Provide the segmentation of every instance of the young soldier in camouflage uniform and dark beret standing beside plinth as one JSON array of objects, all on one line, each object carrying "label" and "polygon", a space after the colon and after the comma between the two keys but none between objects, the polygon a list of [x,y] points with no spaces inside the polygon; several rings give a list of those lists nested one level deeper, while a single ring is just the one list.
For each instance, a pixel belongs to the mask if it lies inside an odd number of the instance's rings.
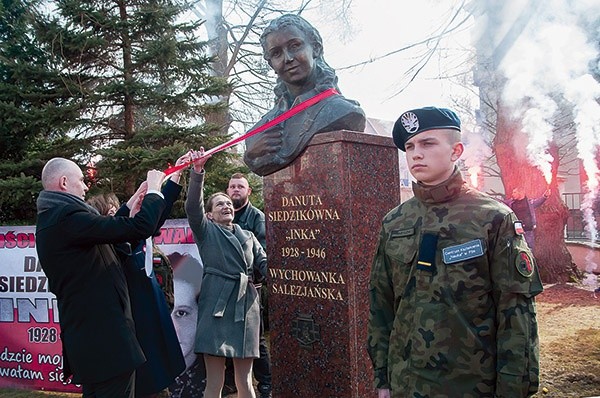
[{"label": "young soldier in camouflage uniform and dark beret standing beside plinth", "polygon": [[539,385],[542,291],[509,207],[466,186],[454,112],[405,112],[414,198],[383,219],[370,275],[368,350],[380,398],[518,398]]}]

